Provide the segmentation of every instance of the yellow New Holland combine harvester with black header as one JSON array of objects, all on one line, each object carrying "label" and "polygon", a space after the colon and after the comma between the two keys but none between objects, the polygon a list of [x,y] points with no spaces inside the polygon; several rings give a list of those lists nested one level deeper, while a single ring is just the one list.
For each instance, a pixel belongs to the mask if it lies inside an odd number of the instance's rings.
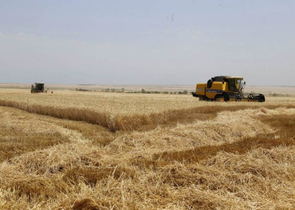
[{"label": "yellow New Holland combine harvester with black header", "polygon": [[265,101],[262,94],[243,93],[246,82],[242,80],[242,77],[212,77],[207,83],[198,83],[193,96],[199,97],[202,101]]}]

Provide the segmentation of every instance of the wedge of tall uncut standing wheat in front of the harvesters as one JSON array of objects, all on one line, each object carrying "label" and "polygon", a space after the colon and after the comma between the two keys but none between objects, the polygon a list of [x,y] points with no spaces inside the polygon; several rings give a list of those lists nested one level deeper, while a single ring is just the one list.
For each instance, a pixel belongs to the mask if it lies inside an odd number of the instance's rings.
[{"label": "wedge of tall uncut standing wheat in front of the harvesters", "polygon": [[[31,113],[101,125],[110,131],[153,129],[158,125],[192,122],[216,115],[224,109],[281,106],[289,103],[207,103],[191,96],[146,96],[144,94],[0,94],[0,106]],[[278,101],[279,102],[279,101]]]}]

